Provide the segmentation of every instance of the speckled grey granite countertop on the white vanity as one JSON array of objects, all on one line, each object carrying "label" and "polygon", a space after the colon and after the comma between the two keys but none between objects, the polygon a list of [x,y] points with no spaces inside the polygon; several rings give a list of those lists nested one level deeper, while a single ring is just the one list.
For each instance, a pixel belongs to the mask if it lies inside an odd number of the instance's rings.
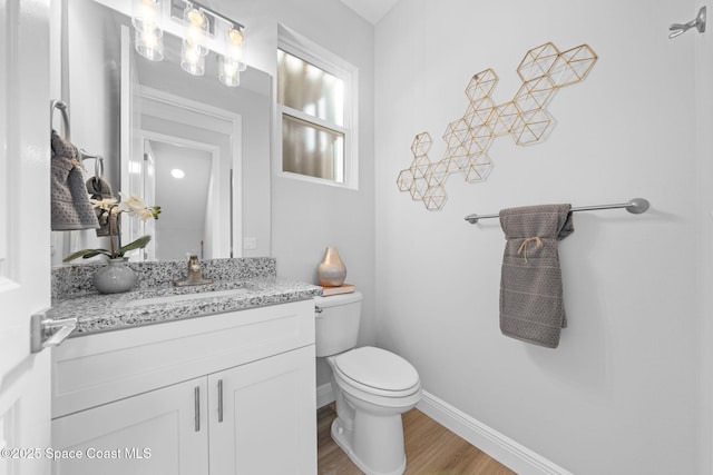
[{"label": "speckled grey granite countertop on the white vanity", "polygon": [[[226,290],[236,291],[225,295]],[[219,294],[211,294],[216,291]],[[203,294],[205,298],[196,297]],[[214,280],[211,285],[189,287],[174,287],[165,284],[124,294],[77,295],[56,303],[47,316],[50,318],[77,317],[77,328],[70,335],[71,338],[183,318],[307,300],[321,294],[322,287],[276,277]],[[189,297],[176,301],[137,301],[178,295]]]}]

